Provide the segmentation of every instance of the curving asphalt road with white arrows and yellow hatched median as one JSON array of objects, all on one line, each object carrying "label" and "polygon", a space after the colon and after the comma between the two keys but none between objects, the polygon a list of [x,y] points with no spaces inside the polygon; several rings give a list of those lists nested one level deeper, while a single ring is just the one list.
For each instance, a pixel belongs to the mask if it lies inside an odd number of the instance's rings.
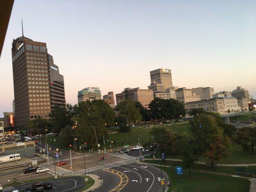
[{"label": "curving asphalt road with white arrows and yellow hatched median", "polygon": [[[103,184],[95,192],[163,192],[161,171],[151,166],[136,163],[110,167],[90,172],[103,179]],[[119,175],[122,175],[123,180]],[[128,182],[126,180],[128,178]],[[163,173],[164,189],[168,177]]]}]

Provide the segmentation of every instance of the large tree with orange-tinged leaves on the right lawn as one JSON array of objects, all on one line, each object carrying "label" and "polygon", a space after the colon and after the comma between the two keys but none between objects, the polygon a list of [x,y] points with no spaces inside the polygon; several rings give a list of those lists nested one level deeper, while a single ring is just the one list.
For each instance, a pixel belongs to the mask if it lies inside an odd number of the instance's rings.
[{"label": "large tree with orange-tinged leaves on the right lawn", "polygon": [[191,121],[191,132],[195,141],[195,155],[208,157],[212,167],[215,161],[227,155],[226,149],[230,144],[230,139],[223,134],[223,130],[213,116],[197,115]]}]

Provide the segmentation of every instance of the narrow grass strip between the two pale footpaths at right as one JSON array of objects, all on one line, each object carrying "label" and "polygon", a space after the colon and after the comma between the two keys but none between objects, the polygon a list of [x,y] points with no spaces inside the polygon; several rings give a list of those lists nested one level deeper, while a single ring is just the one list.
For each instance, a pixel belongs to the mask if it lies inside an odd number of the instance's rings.
[{"label": "narrow grass strip between the two pale footpaths at right", "polygon": [[[159,160],[146,160],[145,162],[146,163],[153,163],[153,164],[163,165],[163,161],[159,161]],[[165,161],[165,165],[172,166],[173,168],[175,166],[184,167],[183,162],[180,162],[180,161]],[[218,166],[218,167],[211,168],[210,166],[207,166],[207,165],[194,164],[193,169],[207,170],[207,171],[218,172],[218,173],[228,173],[228,174],[233,174],[233,175],[239,175],[239,174],[236,173],[236,167]],[[244,171],[256,174],[256,166],[244,167]]]}]

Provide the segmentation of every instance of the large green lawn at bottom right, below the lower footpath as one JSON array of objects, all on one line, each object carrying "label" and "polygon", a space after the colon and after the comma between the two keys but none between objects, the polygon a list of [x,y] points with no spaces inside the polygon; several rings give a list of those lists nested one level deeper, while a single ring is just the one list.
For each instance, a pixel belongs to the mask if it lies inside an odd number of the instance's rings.
[{"label": "large green lawn at bottom right, below the lower footpath", "polygon": [[171,179],[168,192],[249,192],[250,190],[250,181],[242,178],[192,171],[192,179],[188,170],[183,170],[183,176],[180,176],[176,174],[174,168],[162,167],[162,169]]}]

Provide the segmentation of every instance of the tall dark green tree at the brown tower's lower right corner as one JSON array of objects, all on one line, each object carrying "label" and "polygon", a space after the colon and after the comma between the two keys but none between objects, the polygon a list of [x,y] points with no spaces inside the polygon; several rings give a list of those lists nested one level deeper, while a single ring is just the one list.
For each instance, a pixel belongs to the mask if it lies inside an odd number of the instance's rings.
[{"label": "tall dark green tree at the brown tower's lower right corner", "polygon": [[51,117],[52,132],[59,134],[59,132],[66,126],[72,126],[73,122],[73,106],[67,104],[66,106],[54,106]]}]

